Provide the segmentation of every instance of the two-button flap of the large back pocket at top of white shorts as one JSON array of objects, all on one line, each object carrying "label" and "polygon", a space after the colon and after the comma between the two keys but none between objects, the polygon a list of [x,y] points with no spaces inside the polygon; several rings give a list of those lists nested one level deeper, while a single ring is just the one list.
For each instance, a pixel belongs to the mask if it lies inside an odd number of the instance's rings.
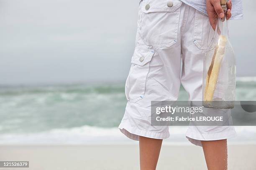
[{"label": "two-button flap of the large back pocket at top of white shorts", "polygon": [[142,11],[144,13],[174,12],[182,5],[179,0],[145,0],[142,2]]}]

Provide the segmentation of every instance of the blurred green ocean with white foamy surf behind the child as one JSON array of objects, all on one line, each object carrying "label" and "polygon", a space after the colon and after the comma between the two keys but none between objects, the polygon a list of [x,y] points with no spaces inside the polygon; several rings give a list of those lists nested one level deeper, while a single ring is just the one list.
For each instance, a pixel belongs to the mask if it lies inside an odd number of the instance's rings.
[{"label": "blurred green ocean with white foamy surf behind the child", "polygon": [[[256,100],[256,77],[237,79],[236,100]],[[125,105],[124,83],[0,86],[0,144],[134,143],[117,128]],[[170,127],[165,143],[189,145],[186,130]],[[256,127],[236,130],[230,143],[256,143]]]}]

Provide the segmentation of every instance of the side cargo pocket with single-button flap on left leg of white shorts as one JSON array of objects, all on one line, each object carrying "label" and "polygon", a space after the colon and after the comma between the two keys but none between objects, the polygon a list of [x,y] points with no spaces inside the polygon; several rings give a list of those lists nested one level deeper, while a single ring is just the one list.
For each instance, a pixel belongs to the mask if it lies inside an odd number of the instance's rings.
[{"label": "side cargo pocket with single-button flap on left leg of white shorts", "polygon": [[125,96],[129,102],[137,102],[144,97],[146,79],[154,50],[136,47],[131,59],[131,69],[125,83]]}]

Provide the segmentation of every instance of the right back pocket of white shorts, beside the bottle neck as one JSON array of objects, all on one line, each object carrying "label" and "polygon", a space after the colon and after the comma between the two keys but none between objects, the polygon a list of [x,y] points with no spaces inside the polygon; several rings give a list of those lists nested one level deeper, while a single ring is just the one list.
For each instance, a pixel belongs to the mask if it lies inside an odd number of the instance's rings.
[{"label": "right back pocket of white shorts, beside the bottle neck", "polygon": [[211,25],[208,17],[196,10],[193,42],[201,50],[207,50],[208,48],[210,29]]}]

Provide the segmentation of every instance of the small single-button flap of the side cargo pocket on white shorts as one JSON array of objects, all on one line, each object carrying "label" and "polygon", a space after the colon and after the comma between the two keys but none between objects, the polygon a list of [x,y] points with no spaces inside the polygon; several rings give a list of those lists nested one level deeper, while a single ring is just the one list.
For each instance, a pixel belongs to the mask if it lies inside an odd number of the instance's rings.
[{"label": "small single-button flap of the side cargo pocket on white shorts", "polygon": [[151,61],[154,53],[155,50],[153,49],[136,47],[133,53],[133,57],[131,59],[131,63],[143,66]]}]

